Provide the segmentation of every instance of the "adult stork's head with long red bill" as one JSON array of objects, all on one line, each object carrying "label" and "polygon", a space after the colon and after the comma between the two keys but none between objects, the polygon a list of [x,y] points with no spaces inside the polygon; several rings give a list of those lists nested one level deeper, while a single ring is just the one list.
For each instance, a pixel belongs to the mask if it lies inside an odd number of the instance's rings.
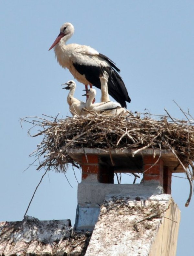
[{"label": "adult stork's head with long red bill", "polygon": [[67,40],[73,35],[74,33],[74,27],[70,22],[64,23],[60,28],[60,33],[58,37],[55,39],[55,42],[50,46],[50,51],[59,41],[63,38],[64,43],[67,42]]}]

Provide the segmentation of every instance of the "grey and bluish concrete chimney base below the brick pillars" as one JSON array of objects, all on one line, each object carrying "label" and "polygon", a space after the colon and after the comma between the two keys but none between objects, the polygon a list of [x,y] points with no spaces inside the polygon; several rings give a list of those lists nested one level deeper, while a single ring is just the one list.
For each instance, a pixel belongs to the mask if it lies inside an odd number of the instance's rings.
[{"label": "grey and bluish concrete chimney base below the brick pillars", "polygon": [[[146,200],[164,201],[168,195],[162,194],[163,188],[157,182],[143,182],[141,184],[102,184],[83,181],[78,185],[78,206],[76,212],[75,229],[93,230],[104,200],[114,196],[127,197],[131,201],[139,198],[141,204]],[[155,195],[155,197],[154,197]]]}]

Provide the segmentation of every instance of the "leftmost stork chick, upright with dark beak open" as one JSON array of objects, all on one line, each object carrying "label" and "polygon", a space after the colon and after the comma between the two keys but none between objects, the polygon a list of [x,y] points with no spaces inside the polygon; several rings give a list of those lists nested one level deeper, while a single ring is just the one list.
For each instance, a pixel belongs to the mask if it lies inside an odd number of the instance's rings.
[{"label": "leftmost stork chick, upright with dark beak open", "polygon": [[67,103],[69,104],[69,110],[73,116],[80,116],[82,113],[82,108],[86,107],[85,102],[80,101],[76,98],[74,98],[74,92],[76,89],[76,83],[73,80],[68,81],[65,84],[61,85],[67,85],[66,87],[62,89],[70,90],[68,96],[67,96]]}]

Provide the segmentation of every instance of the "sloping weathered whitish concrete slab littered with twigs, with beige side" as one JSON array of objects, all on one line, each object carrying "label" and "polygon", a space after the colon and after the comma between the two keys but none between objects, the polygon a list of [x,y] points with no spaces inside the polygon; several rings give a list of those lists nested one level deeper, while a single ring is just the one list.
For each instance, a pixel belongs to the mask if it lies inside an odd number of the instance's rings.
[{"label": "sloping weathered whitish concrete slab littered with twigs, with beige side", "polygon": [[86,256],[175,256],[180,211],[170,195],[151,200],[109,195]]}]

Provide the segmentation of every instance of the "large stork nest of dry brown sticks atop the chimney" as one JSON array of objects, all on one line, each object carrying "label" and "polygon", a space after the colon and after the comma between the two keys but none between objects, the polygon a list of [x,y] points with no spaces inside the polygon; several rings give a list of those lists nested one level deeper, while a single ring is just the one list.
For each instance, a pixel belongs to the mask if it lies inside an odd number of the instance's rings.
[{"label": "large stork nest of dry brown sticks atop the chimney", "polygon": [[[168,113],[167,113],[168,114]],[[186,116],[186,115],[185,115]],[[156,120],[157,119],[159,120]],[[44,116],[26,117],[22,121],[38,127],[38,133],[32,137],[43,136],[37,149],[31,154],[38,161],[38,168],[66,172],[67,164],[76,165],[70,157],[73,148],[100,149],[168,149],[178,159],[180,165],[192,179],[194,162],[194,123],[191,118],[178,120],[168,116],[150,114],[129,114],[126,116],[76,118]]]}]

